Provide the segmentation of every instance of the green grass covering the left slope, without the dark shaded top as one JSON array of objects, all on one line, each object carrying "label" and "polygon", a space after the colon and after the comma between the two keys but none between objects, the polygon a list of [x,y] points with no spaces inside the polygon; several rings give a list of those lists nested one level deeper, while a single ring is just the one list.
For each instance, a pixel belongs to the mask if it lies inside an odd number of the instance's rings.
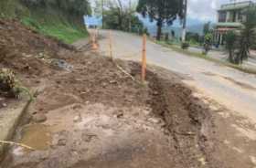
[{"label": "green grass covering the left slope, without the dark shaded top", "polygon": [[[88,37],[85,27],[80,24],[70,24],[74,18],[69,18],[52,8],[29,9],[19,0],[0,0],[0,18],[16,18],[24,25],[30,26],[37,32],[56,37],[59,40],[71,44],[76,40]],[[69,19],[68,19],[69,18]]]}]

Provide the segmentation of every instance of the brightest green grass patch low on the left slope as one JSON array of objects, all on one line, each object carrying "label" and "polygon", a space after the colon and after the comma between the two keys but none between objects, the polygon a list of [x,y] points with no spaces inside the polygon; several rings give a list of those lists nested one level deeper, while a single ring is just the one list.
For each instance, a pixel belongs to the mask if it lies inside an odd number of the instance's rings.
[{"label": "brightest green grass patch low on the left slope", "polygon": [[43,35],[49,37],[56,37],[59,40],[62,40],[63,42],[68,44],[72,44],[80,38],[88,37],[88,32],[85,29],[77,26],[71,26],[67,23],[62,23],[60,19],[56,19],[55,23],[39,23],[37,19],[31,17],[24,17],[22,19],[22,23],[26,26],[33,27],[35,30]]}]

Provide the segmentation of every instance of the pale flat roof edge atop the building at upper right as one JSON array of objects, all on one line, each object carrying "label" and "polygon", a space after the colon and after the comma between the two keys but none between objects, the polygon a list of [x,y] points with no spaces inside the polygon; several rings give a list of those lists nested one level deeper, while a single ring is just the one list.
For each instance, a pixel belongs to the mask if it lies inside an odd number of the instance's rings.
[{"label": "pale flat roof edge atop the building at upper right", "polygon": [[254,3],[252,1],[231,3],[231,4],[221,5],[219,11],[243,9],[243,8],[249,7],[250,5],[254,5]]}]

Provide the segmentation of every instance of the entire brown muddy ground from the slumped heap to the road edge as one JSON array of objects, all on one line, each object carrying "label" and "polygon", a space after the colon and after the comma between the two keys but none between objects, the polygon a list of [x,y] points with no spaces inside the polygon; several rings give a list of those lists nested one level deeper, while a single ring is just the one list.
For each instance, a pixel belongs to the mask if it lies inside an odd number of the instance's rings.
[{"label": "entire brown muddy ground from the slumped heap to the road edge", "polygon": [[225,135],[216,113],[178,75],[152,67],[143,84],[137,63],[76,51],[16,21],[2,20],[0,35],[0,67],[37,90],[12,140],[35,150],[12,146],[1,168],[236,167],[216,139]]}]

